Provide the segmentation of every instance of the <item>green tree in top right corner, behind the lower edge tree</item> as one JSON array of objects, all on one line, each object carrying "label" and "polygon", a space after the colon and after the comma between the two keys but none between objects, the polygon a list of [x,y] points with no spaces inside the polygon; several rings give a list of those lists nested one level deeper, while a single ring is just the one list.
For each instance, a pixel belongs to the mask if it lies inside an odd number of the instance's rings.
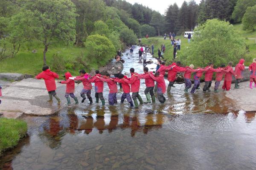
[{"label": "green tree in top right corner, behind the lower edge tree", "polygon": [[234,11],[232,13],[232,19],[236,23],[241,22],[246,9],[250,6],[255,6],[255,5],[256,5],[256,0],[238,0],[234,8]]}]

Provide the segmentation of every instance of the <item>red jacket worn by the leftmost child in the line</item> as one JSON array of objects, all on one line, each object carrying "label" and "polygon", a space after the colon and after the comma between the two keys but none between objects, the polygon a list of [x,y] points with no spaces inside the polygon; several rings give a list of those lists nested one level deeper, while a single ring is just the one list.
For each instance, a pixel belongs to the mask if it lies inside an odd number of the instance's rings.
[{"label": "red jacket worn by the leftmost child in the line", "polygon": [[47,69],[46,71],[41,72],[35,78],[36,79],[44,79],[47,91],[56,90],[55,79],[58,79],[58,74],[50,71],[50,69]]}]

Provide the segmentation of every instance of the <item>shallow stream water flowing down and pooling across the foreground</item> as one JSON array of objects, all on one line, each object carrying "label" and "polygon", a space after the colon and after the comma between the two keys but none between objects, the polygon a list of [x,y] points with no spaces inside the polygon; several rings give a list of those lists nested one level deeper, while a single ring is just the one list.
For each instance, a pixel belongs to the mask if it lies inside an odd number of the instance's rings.
[{"label": "shallow stream water flowing down and pooling across the foreground", "polygon": [[[138,50],[123,54],[123,73],[131,67],[143,73]],[[147,59],[154,71],[157,60],[150,54]],[[255,170],[255,112],[237,111],[224,92],[185,94],[184,84],[175,86],[164,104],[132,109],[120,104],[119,91],[115,106],[86,101],[52,116],[23,116],[28,136],[0,158],[0,169]],[[141,80],[145,101],[144,89]],[[106,83],[104,97],[107,101]]]}]

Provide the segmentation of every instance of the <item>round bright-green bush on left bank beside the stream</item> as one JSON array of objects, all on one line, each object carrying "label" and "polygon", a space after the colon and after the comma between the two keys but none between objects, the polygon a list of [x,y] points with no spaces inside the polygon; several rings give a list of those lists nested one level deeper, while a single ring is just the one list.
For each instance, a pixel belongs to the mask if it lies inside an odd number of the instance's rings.
[{"label": "round bright-green bush on left bank beside the stream", "polygon": [[95,62],[99,65],[104,65],[115,54],[113,43],[107,37],[99,34],[87,37],[84,45],[88,48],[90,62]]}]

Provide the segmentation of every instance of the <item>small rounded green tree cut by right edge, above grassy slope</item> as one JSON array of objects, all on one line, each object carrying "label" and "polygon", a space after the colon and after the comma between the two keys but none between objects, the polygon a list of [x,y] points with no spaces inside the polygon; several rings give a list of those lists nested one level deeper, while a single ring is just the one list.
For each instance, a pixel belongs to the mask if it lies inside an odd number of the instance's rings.
[{"label": "small rounded green tree cut by right edge, above grassy slope", "polygon": [[242,19],[243,29],[251,29],[255,30],[256,26],[256,5],[252,7],[248,7],[244,13],[244,17]]}]

